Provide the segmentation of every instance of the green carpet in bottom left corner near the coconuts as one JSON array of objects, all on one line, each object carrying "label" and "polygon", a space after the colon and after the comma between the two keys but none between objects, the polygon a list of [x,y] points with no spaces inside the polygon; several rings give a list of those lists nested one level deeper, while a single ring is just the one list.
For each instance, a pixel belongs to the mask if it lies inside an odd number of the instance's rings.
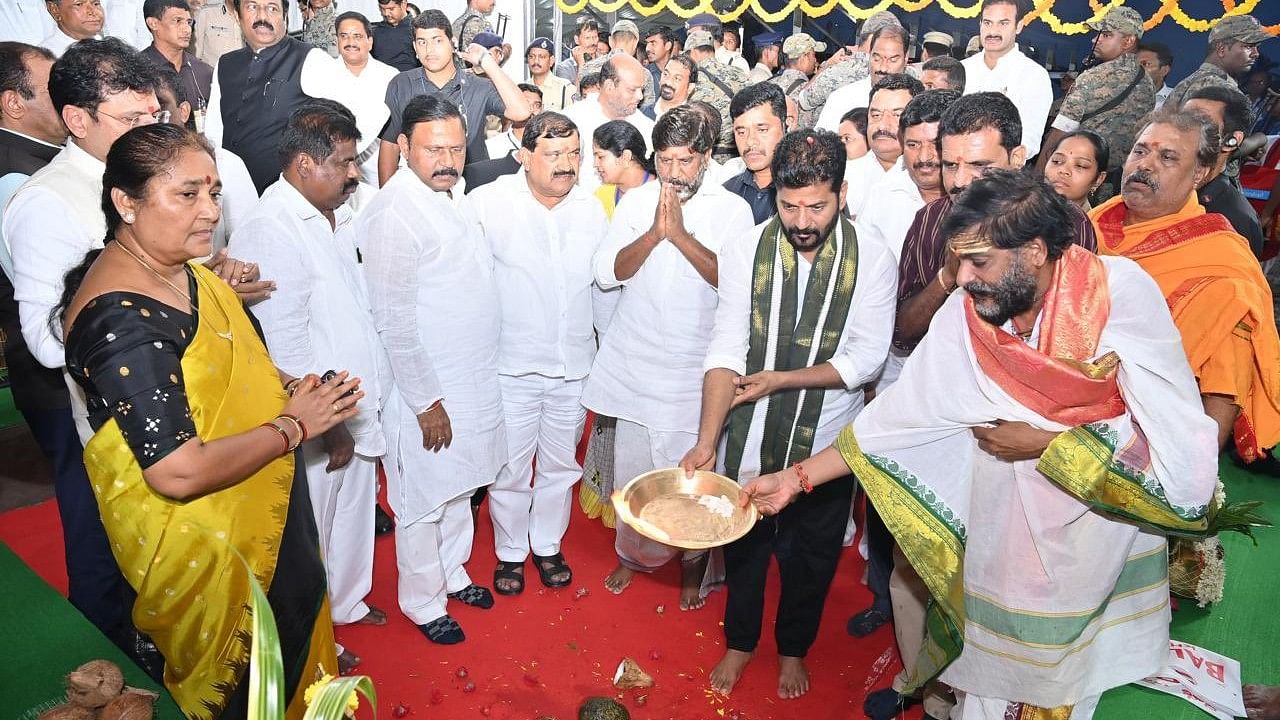
[{"label": "green carpet in bottom left corner near the coconuts", "polygon": [[0,717],[35,720],[64,701],[63,678],[90,660],[110,660],[124,682],[160,692],[156,720],[182,720],[169,694],[74,607],[0,542],[0,647],[9,665],[0,671]]}]

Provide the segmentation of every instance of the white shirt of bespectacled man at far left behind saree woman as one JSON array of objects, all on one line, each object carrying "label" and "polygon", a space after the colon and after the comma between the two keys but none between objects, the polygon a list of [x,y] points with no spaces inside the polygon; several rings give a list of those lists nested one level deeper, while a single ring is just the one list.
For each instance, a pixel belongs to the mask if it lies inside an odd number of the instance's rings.
[{"label": "white shirt of bespectacled man at far left behind saree woman", "polygon": [[63,277],[90,250],[101,249],[106,236],[105,169],[73,140],[18,188],[4,210],[22,336],[46,368],[67,364],[61,333],[49,327],[49,314],[63,297]]}]

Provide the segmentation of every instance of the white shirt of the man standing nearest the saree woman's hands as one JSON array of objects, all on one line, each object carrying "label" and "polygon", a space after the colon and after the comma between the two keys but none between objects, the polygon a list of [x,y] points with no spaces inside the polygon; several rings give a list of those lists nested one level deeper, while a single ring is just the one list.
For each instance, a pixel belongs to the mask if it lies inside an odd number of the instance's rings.
[{"label": "white shirt of the man standing nearest the saree woman's hands", "polygon": [[257,263],[276,283],[253,305],[271,360],[285,373],[347,370],[361,379],[366,401],[347,420],[356,451],[387,452],[378,409],[390,369],[378,343],[353,241],[351,210],[334,210],[334,225],[283,177],[232,234],[228,251]]}]

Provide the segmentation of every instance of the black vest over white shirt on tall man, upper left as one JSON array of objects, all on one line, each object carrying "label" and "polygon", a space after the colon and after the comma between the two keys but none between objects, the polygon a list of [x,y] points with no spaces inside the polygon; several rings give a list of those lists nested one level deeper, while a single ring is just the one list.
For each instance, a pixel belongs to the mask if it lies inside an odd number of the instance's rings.
[{"label": "black vest over white shirt on tall man, upper left", "polygon": [[239,155],[259,195],[280,177],[280,140],[302,94],[302,61],[311,50],[292,37],[253,54],[233,50],[218,61],[223,147]]}]

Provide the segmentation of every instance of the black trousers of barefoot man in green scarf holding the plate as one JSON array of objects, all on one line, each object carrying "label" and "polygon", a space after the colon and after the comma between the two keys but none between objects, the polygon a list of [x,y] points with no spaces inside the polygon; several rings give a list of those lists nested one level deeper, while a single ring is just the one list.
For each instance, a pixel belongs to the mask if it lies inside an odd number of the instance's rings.
[{"label": "black trousers of barefoot man in green scarf holding the plate", "polygon": [[724,546],[724,639],[730,650],[753,652],[760,641],[764,580],[772,556],[778,559],[782,582],[773,629],[778,655],[808,655],[836,575],[852,496],[852,477],[824,483]]}]

